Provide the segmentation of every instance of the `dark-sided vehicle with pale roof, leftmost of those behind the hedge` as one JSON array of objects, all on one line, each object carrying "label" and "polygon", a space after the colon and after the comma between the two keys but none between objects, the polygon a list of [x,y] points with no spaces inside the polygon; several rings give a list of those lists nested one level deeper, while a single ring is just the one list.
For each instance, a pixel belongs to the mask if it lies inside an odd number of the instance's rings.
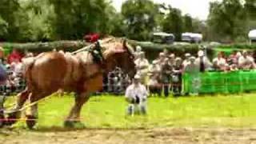
[{"label": "dark-sided vehicle with pale roof, leftmost of those behind the hedge", "polygon": [[167,34],[163,32],[154,33],[152,37],[152,42],[172,44],[174,43],[174,34]]}]

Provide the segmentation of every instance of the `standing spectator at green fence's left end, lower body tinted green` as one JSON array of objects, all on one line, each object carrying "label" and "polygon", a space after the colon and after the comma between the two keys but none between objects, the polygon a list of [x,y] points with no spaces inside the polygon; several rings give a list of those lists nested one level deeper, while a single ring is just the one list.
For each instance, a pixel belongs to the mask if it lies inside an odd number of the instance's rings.
[{"label": "standing spectator at green fence's left end, lower body tinted green", "polygon": [[188,87],[190,94],[198,95],[200,89],[200,70],[199,66],[195,64],[195,58],[190,58],[190,63],[184,68],[186,74],[190,75],[191,82]]}]

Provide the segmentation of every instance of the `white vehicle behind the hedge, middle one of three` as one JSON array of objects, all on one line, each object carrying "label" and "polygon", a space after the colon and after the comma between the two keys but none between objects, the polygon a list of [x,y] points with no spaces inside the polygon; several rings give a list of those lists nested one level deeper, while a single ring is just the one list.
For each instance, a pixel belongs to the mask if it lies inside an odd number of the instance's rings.
[{"label": "white vehicle behind the hedge, middle one of three", "polygon": [[202,34],[194,34],[194,33],[183,33],[182,34],[183,42],[191,42],[191,43],[200,43],[202,42]]}]

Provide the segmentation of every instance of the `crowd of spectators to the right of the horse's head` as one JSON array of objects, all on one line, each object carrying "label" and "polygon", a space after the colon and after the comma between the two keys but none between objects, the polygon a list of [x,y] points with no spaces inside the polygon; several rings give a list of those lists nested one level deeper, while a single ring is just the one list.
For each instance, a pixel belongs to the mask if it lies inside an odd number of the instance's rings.
[{"label": "crowd of spectators to the right of the horse's head", "polygon": [[141,47],[136,50],[136,68],[142,77],[142,83],[148,87],[151,95],[167,97],[170,92],[174,96],[182,94],[182,74],[187,73],[195,79],[205,71],[235,71],[252,70],[256,68],[252,53],[244,50],[234,51],[230,56],[218,53],[217,58],[210,61],[205,50],[199,50],[194,56],[186,53],[182,58],[164,51],[158,55],[152,64],[145,58]]}]

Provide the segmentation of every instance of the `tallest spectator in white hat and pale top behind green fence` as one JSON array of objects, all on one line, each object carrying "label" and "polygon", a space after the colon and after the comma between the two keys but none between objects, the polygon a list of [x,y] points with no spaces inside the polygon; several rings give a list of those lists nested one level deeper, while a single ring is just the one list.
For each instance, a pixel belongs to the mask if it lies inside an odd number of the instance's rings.
[{"label": "tallest spectator in white hat and pale top behind green fence", "polygon": [[195,63],[199,66],[200,72],[202,73],[206,70],[210,70],[210,67],[212,66],[202,50],[198,51],[198,58],[195,60]]}]

